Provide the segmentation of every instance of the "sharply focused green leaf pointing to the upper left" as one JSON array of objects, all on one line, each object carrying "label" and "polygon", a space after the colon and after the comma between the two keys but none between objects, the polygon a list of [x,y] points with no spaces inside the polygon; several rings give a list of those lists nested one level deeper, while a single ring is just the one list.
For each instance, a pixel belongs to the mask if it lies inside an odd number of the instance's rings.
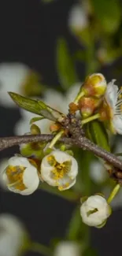
[{"label": "sharply focused green leaf pointing to the upper left", "polygon": [[51,108],[50,106],[47,106],[40,100],[26,98],[14,92],[9,92],[9,95],[13,99],[13,102],[16,102],[20,108],[25,109],[31,113],[36,113],[39,116],[43,116],[51,121],[61,122],[65,119],[65,115],[63,113]]}]

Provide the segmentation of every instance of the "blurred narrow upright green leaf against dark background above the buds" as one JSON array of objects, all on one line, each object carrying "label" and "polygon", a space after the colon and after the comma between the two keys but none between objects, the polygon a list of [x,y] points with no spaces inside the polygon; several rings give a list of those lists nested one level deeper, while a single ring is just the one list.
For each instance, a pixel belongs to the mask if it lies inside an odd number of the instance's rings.
[{"label": "blurred narrow upright green leaf against dark background above the buds", "polygon": [[57,40],[57,73],[61,86],[67,90],[78,81],[76,69],[70,56],[65,39]]}]

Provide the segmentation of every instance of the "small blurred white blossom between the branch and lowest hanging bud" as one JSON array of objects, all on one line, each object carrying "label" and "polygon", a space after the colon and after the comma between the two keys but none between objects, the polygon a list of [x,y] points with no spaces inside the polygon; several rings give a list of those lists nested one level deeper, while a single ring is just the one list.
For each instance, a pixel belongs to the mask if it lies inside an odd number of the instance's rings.
[{"label": "small blurred white blossom between the branch and lowest hanging bud", "polygon": [[107,180],[107,171],[102,163],[98,160],[91,161],[90,176],[95,183],[101,184]]}]

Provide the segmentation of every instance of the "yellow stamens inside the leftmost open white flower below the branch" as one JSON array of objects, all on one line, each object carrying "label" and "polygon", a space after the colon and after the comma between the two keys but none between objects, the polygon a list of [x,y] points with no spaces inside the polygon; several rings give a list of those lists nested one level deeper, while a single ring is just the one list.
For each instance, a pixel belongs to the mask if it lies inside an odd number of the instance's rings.
[{"label": "yellow stamens inside the leftmost open white flower below the branch", "polygon": [[6,176],[9,180],[9,187],[14,187],[15,189],[18,189],[20,191],[23,191],[27,188],[23,183],[23,175],[25,169],[26,167],[20,165],[9,165],[6,168]]}]

